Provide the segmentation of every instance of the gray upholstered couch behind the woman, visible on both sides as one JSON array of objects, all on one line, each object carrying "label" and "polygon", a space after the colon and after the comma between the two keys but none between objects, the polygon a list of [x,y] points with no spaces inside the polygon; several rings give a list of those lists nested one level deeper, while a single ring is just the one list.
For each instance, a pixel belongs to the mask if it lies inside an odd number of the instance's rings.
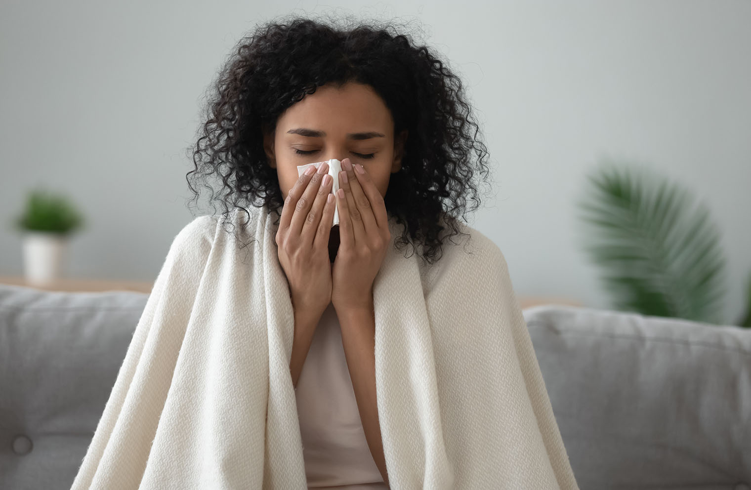
[{"label": "gray upholstered couch behind the woman, visible on both sides", "polygon": [[[70,488],[146,298],[0,285],[0,489]],[[524,315],[582,490],[751,488],[751,330]]]}]

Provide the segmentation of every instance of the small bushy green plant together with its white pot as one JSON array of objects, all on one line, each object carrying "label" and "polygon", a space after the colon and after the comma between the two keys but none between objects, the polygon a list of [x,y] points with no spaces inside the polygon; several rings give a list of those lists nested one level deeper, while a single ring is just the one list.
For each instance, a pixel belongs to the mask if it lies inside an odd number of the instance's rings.
[{"label": "small bushy green plant together with its white pot", "polygon": [[26,280],[48,283],[61,277],[68,236],[83,224],[83,216],[71,201],[49,191],[33,190],[15,224],[23,233]]}]

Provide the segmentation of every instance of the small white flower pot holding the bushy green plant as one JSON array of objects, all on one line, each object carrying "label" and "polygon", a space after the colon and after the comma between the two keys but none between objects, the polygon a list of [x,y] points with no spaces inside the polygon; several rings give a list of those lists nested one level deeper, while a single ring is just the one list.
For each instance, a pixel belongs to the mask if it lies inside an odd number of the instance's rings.
[{"label": "small white flower pot holding the bushy green plant", "polygon": [[44,231],[26,231],[23,237],[23,267],[26,281],[45,284],[62,277],[67,236]]}]

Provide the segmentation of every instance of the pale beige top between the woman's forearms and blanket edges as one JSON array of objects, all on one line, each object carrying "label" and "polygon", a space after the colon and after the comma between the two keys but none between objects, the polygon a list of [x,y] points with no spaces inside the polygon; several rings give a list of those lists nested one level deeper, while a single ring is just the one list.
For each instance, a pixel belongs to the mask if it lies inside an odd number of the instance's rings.
[{"label": "pale beige top between the woman's forearms and blanket edges", "polygon": [[388,489],[365,438],[333,305],[315,329],[295,398],[308,488]]}]

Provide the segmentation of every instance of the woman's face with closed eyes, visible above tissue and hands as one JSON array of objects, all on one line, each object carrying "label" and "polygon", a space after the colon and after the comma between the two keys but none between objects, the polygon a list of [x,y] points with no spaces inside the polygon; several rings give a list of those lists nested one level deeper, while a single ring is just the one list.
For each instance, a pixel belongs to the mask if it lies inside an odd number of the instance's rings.
[{"label": "woman's face with closed eyes, visible above tissue and hands", "polygon": [[370,86],[346,83],[318,87],[289,107],[273,134],[264,134],[264,150],[283,199],[299,178],[298,165],[331,158],[361,164],[385,197],[391,173],[401,168],[404,140],[406,131],[394,140],[391,111]]}]

